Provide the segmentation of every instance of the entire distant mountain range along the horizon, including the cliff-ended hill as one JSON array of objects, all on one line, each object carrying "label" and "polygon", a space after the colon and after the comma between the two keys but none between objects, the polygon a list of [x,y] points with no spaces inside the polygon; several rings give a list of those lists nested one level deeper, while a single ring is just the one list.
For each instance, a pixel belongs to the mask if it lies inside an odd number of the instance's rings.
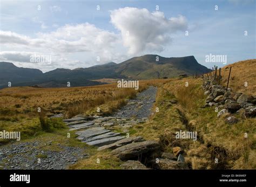
[{"label": "entire distant mountain range along the horizon, including the cliff-ended hill", "polygon": [[0,88],[12,86],[66,87],[92,86],[103,84],[92,81],[103,78],[113,79],[159,79],[172,78],[180,74],[200,74],[208,72],[208,68],[200,65],[194,56],[165,58],[155,54],[133,57],[123,63],[107,63],[88,68],[74,70],[57,68],[46,73],[33,68],[17,67],[12,63],[0,62]]}]

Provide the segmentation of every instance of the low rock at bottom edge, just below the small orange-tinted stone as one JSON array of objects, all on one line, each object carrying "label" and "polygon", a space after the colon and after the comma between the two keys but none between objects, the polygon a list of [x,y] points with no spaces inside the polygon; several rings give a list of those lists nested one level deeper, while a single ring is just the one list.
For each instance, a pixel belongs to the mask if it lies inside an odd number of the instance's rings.
[{"label": "low rock at bottom edge, just below the small orange-tinted stone", "polygon": [[189,169],[186,162],[178,162],[159,158],[159,162],[153,165],[156,169]]}]

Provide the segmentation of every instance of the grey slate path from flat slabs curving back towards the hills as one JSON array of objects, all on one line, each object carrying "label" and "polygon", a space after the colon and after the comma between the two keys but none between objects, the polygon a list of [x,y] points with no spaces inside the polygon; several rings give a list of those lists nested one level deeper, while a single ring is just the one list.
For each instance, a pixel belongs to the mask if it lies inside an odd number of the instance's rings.
[{"label": "grey slate path from flat slabs curving back towards the hills", "polygon": [[70,130],[84,129],[76,132],[77,138],[82,142],[91,146],[106,146],[126,137],[107,128],[112,126],[130,128],[134,124],[147,120],[151,114],[153,103],[156,101],[156,93],[157,88],[150,86],[145,91],[138,93],[135,99],[127,101],[127,105],[119,109],[113,116],[93,116],[94,120],[86,121],[83,115],[78,115],[63,121],[70,127]]}]

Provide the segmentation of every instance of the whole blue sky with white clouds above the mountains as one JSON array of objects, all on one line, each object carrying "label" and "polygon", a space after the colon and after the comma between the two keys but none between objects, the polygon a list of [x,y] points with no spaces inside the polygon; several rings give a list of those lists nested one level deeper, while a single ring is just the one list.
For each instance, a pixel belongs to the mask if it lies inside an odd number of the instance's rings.
[{"label": "whole blue sky with white clouds above the mountains", "polygon": [[222,67],[206,57],[256,58],[255,8],[255,0],[1,0],[0,61],[47,72],[158,54]]}]

